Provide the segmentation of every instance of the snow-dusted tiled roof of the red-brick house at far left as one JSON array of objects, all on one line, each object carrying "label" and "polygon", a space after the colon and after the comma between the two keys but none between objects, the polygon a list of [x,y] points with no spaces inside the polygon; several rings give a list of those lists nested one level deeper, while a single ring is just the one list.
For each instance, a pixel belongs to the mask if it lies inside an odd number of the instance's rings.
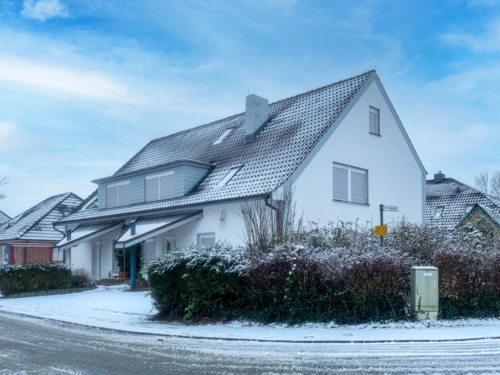
[{"label": "snow-dusted tiled roof of the red-brick house at far left", "polygon": [[58,241],[62,229],[52,223],[74,210],[82,199],[72,192],[51,196],[0,225],[0,242],[9,240]]}]

